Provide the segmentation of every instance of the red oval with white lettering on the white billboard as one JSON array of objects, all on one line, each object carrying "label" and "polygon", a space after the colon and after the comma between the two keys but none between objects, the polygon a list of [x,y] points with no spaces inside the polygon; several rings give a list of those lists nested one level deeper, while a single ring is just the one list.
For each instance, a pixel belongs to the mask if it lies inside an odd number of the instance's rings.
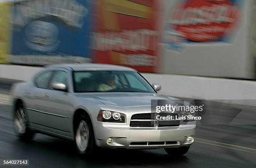
[{"label": "red oval with white lettering on the white billboard", "polygon": [[[168,23],[190,41],[221,40],[235,28],[240,20],[236,0],[177,1]],[[182,2],[182,3],[181,3]]]}]

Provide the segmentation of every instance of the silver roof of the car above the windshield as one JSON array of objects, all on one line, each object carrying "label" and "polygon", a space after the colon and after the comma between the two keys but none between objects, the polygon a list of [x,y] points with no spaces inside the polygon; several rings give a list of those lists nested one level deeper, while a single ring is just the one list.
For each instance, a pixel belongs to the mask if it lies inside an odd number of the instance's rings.
[{"label": "silver roof of the car above the windshield", "polygon": [[115,70],[115,71],[134,71],[134,69],[118,66],[118,65],[109,65],[109,64],[55,64],[46,66],[46,68],[65,68],[73,69],[74,71],[101,71],[101,70]]}]

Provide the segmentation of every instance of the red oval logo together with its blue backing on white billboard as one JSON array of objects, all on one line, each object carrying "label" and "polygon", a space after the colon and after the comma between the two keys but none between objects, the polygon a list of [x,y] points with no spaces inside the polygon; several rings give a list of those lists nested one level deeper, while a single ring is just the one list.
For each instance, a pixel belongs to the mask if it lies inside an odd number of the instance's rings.
[{"label": "red oval logo together with its blue backing on white billboard", "polygon": [[178,51],[184,49],[179,46],[184,43],[232,42],[232,33],[241,20],[238,1],[173,1],[167,11],[164,43],[169,49]]}]

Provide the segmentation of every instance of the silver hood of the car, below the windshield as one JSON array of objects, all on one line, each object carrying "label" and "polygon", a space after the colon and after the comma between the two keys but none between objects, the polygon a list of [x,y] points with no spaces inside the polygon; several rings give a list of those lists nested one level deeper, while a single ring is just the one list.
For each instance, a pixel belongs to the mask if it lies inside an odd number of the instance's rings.
[{"label": "silver hood of the car, below the windshield", "polygon": [[79,97],[91,97],[108,106],[133,107],[151,105],[151,99],[176,99],[158,93],[85,93]]}]

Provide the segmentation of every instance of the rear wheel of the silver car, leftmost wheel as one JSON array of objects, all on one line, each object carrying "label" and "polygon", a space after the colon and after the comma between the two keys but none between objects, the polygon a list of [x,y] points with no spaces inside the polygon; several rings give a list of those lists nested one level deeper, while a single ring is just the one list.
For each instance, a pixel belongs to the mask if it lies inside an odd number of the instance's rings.
[{"label": "rear wheel of the silver car, leftmost wheel", "polygon": [[31,140],[34,133],[28,128],[28,116],[21,102],[16,104],[13,114],[13,127],[18,137],[22,140]]}]

